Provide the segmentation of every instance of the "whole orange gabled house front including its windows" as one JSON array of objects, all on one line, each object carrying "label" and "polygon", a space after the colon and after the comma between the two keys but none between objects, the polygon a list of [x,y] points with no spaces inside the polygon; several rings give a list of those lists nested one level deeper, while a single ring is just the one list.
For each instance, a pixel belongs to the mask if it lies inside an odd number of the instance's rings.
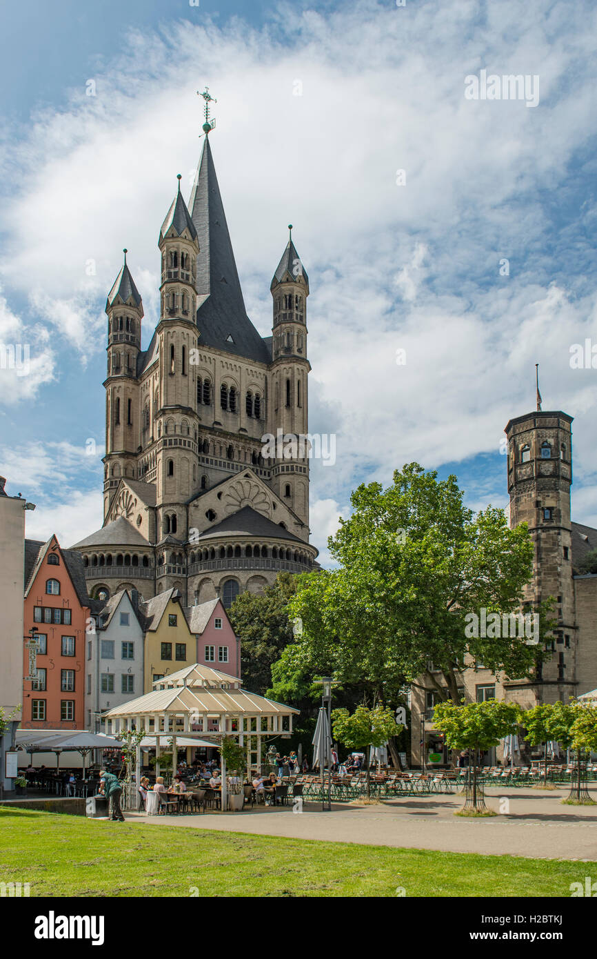
[{"label": "whole orange gabled house front including its windows", "polygon": [[[24,648],[24,729],[84,729],[84,646],[89,599],[80,554],[25,541],[24,639],[34,636],[33,657]],[[36,675],[36,678],[29,678]]]}]

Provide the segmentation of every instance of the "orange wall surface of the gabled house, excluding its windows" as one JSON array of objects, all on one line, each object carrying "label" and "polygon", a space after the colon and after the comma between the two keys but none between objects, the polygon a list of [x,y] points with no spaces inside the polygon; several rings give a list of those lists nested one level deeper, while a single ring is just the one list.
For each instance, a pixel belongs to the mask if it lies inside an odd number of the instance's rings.
[{"label": "orange wall surface of the gabled house, excluding its windows", "polygon": [[[89,610],[80,605],[70,575],[62,556],[59,565],[48,563],[50,550],[46,553],[25,599],[25,633],[34,626],[39,634],[46,636],[46,653],[37,654],[37,667],[46,670],[46,690],[33,690],[33,683],[25,682],[23,690],[23,722],[26,729],[84,729],[84,684],[85,684],[85,630],[89,619]],[[46,582],[57,579],[60,593],[54,596],[46,593]],[[70,610],[71,623],[39,621],[34,616],[35,607],[48,607],[54,610]],[[54,612],[52,614],[54,619]],[[62,655],[62,637],[75,638],[75,655]],[[29,658],[23,656],[24,675],[29,670]],[[61,670],[73,670],[75,690],[61,690]],[[45,700],[45,719],[34,719],[32,704],[34,700]],[[72,719],[61,717],[61,702],[74,703]]]}]

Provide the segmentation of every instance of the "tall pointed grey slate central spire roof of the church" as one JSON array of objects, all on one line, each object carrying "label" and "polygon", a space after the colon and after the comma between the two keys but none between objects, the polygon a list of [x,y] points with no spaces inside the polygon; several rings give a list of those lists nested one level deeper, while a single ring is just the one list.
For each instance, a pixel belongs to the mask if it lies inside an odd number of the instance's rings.
[{"label": "tall pointed grey slate central spire roof of the church", "polygon": [[[258,363],[271,363],[271,351],[246,315],[207,136],[203,141],[189,206],[199,241],[196,320],[199,343]],[[234,342],[230,342],[228,336]]]}]

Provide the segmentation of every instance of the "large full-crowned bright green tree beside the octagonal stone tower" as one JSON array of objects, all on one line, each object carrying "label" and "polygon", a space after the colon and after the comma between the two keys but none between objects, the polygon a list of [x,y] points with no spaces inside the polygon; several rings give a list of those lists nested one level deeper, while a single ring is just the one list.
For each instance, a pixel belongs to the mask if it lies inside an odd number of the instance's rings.
[{"label": "large full-crowned bright green tree beside the octagonal stone tower", "polygon": [[[438,480],[417,463],[386,490],[359,486],[351,502],[329,540],[338,569],[301,576],[290,600],[303,625],[292,667],[302,676],[333,669],[341,683],[359,677],[386,704],[405,683],[457,703],[471,658],[512,679],[532,674],[542,643],[468,635],[483,609],[519,611],[534,553],[526,525],[510,529],[492,506],[475,515],[455,477]],[[550,624],[542,610],[540,639]]]}]

